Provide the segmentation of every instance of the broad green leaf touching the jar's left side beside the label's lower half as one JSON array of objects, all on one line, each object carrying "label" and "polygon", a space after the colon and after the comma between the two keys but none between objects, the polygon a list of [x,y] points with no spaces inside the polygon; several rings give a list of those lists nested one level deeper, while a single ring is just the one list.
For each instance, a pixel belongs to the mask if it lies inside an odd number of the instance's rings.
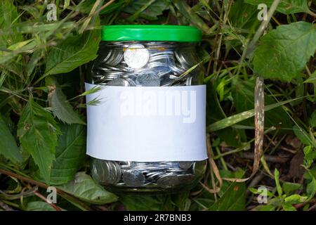
[{"label": "broad green leaf touching the jar's left side beside the label's lower half", "polygon": [[[86,155],[86,127],[61,124],[60,131],[62,135],[58,137],[56,160],[51,168],[51,185],[65,184],[74,179]],[[42,179],[40,174],[36,176]]]}]

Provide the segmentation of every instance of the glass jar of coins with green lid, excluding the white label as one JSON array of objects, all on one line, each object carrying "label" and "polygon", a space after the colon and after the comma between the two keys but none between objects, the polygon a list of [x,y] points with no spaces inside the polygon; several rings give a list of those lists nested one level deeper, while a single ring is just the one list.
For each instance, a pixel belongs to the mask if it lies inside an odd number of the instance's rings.
[{"label": "glass jar of coins with green lid, excluding the white label", "polygon": [[[89,67],[87,82],[103,86],[203,84],[204,70],[195,49],[200,39],[200,31],[188,26],[104,26],[98,58]],[[205,167],[206,160],[140,162],[91,158],[93,179],[113,192],[185,191],[202,179]]]}]

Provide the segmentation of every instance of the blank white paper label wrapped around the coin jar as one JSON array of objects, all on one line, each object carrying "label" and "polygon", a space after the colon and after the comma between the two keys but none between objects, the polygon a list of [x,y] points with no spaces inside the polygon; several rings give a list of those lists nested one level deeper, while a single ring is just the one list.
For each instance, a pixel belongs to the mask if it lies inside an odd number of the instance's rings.
[{"label": "blank white paper label wrapped around the coin jar", "polygon": [[87,154],[117,161],[199,161],[206,155],[206,87],[101,86],[86,96]]}]

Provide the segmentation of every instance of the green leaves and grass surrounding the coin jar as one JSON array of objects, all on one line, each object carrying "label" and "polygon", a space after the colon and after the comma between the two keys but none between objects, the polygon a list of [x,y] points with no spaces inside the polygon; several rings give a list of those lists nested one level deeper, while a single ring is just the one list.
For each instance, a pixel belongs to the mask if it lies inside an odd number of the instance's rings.
[{"label": "green leaves and grass surrounding the coin jar", "polygon": [[[47,20],[51,3],[55,21]],[[259,4],[268,6],[266,20],[258,20]],[[0,209],[315,210],[315,6],[1,0]],[[97,56],[100,25],[111,24],[194,25],[203,32],[210,159],[190,192],[117,196],[89,175],[86,63]],[[46,203],[47,186],[57,188],[56,204]],[[265,204],[258,203],[262,191]]]}]

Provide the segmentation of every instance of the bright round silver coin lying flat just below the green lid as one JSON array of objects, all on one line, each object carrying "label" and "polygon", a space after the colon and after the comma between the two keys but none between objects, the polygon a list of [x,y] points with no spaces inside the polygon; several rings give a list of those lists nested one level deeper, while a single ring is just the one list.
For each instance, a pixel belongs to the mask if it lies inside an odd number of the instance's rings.
[{"label": "bright round silver coin lying flat just below the green lid", "polygon": [[131,44],[124,52],[124,61],[130,68],[139,69],[147,64],[150,53],[142,44]]}]

